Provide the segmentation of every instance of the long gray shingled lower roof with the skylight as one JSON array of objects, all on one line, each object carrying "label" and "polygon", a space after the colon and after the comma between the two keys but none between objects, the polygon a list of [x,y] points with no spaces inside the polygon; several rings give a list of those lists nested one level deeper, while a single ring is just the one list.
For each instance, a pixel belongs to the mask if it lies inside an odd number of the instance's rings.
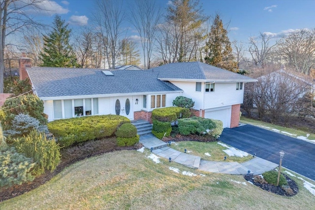
[{"label": "long gray shingled lower roof with the skylight", "polygon": [[152,70],[113,70],[114,76],[100,69],[32,67],[27,71],[39,98],[181,91],[159,80]]}]

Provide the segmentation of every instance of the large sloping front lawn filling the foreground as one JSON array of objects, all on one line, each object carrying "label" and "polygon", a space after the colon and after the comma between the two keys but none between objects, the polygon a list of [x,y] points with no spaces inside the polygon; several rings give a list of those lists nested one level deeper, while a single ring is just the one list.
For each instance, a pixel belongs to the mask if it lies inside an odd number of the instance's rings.
[{"label": "large sloping front lawn filling the foreground", "polygon": [[[156,164],[147,158],[149,154],[148,150],[116,151],[85,159],[31,192],[0,203],[0,209],[282,210],[315,206],[315,196],[295,177],[300,192],[282,197],[233,181],[244,182],[241,175],[202,172],[166,159]],[[182,175],[183,171],[197,176]]]}]

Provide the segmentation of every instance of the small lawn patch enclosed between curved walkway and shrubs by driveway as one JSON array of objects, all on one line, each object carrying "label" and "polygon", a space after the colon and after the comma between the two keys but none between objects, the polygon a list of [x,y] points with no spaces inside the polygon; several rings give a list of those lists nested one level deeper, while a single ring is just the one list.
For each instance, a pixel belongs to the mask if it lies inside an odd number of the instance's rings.
[{"label": "small lawn patch enclosed between curved walkway and shrubs by driveway", "polygon": [[[176,145],[177,144],[177,145]],[[180,141],[171,144],[171,148],[184,152],[185,149],[189,151],[188,153],[191,155],[199,156],[203,160],[209,161],[224,161],[224,156],[226,156],[226,162],[238,162],[243,163],[252,159],[252,155],[248,155],[247,157],[234,157],[228,156],[222,150],[227,149],[224,146],[215,142],[199,142],[199,141]],[[209,153],[211,156],[205,155],[205,153]]]}]

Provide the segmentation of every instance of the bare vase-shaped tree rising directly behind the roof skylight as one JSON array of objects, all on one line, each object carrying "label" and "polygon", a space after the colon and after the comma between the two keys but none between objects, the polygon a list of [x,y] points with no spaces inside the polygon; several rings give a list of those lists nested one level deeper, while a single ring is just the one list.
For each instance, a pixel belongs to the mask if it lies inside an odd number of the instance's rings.
[{"label": "bare vase-shaped tree rising directly behind the roof skylight", "polygon": [[[95,0],[94,21],[103,37],[109,66],[115,69],[116,60],[121,51],[120,40],[124,37],[122,23],[125,20],[123,4],[120,0]],[[111,58],[111,64],[110,64]]]}]

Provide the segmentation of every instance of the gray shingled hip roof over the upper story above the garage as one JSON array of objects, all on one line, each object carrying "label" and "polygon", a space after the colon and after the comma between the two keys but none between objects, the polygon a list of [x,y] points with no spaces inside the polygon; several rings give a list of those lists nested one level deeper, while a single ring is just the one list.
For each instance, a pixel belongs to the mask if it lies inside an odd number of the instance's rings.
[{"label": "gray shingled hip roof over the upper story above the garage", "polygon": [[167,81],[202,82],[255,82],[248,76],[223,70],[201,62],[171,63],[152,69],[158,71],[158,79]]}]

